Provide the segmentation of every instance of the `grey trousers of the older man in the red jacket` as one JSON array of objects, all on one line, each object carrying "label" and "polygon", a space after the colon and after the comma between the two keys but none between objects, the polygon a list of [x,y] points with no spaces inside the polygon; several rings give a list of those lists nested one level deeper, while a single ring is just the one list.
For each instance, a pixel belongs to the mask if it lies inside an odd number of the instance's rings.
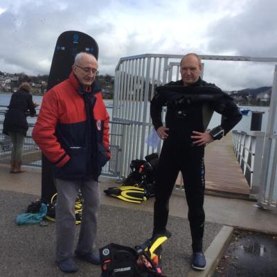
[{"label": "grey trousers of the older man in the red jacket", "polygon": [[99,183],[90,181],[68,181],[55,179],[57,188],[56,260],[73,256],[75,245],[75,199],[82,192],[82,222],[76,249],[84,254],[93,250],[97,230],[97,215],[100,208]]}]

